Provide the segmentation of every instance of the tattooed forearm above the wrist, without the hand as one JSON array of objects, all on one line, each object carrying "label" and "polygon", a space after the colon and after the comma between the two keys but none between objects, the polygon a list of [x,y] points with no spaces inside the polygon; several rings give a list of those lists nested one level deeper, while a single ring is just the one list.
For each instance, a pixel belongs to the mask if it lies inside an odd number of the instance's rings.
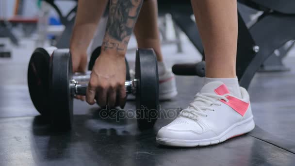
[{"label": "tattooed forearm above the wrist, without the hand", "polygon": [[125,56],[143,0],[110,0],[102,53]]}]

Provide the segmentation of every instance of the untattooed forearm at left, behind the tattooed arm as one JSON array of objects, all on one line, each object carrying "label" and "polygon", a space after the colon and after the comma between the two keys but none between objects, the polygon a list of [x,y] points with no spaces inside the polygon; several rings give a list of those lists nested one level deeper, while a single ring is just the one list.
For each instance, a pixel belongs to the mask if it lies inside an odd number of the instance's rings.
[{"label": "untattooed forearm at left, behind the tattooed arm", "polygon": [[96,32],[100,17],[108,0],[78,0],[75,25],[70,40],[70,49],[86,50]]}]

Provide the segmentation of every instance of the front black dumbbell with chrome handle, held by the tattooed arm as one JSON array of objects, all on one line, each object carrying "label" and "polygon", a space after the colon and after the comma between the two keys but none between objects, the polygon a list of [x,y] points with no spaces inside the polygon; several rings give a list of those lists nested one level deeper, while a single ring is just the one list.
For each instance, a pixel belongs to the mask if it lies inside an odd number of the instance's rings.
[{"label": "front black dumbbell with chrome handle, held by the tattooed arm", "polygon": [[[126,92],[136,96],[138,127],[151,128],[157,119],[159,104],[158,69],[153,50],[137,50],[135,70],[135,79],[125,83]],[[79,80],[80,78],[83,79]],[[55,50],[52,53],[49,65],[48,101],[49,117],[54,129],[71,128],[73,96],[85,95],[88,81],[89,73],[79,77],[72,74],[69,50]]]}]

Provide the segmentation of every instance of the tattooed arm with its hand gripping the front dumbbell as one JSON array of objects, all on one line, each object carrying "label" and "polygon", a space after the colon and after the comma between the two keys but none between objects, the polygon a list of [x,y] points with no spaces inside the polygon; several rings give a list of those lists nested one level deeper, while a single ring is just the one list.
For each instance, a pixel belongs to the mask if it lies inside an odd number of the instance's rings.
[{"label": "tattooed arm with its hand gripping the front dumbbell", "polygon": [[125,103],[125,54],[143,0],[110,0],[109,19],[101,53],[93,67],[86,101],[101,107]]}]

